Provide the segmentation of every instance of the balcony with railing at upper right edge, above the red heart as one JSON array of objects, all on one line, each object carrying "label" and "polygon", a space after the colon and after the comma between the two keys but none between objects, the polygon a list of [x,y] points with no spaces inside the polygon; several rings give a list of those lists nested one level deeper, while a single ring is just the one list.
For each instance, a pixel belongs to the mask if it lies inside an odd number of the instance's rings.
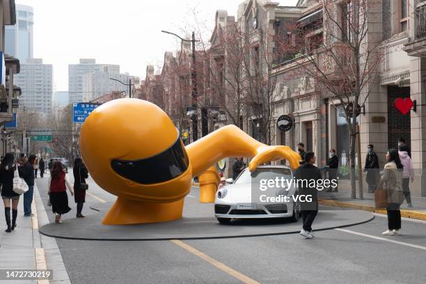
[{"label": "balcony with railing at upper right edge, above the red heart", "polygon": [[414,35],[404,45],[409,56],[426,57],[426,4],[422,2],[414,9]]}]

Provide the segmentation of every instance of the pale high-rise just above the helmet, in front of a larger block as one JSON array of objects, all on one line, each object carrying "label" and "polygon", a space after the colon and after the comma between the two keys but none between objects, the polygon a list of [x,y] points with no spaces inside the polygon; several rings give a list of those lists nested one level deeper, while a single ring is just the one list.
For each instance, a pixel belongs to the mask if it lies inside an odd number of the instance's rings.
[{"label": "pale high-rise just above the helmet, in front of a larger block", "polygon": [[[100,71],[84,74],[83,92],[87,102],[111,92],[123,92],[129,95],[129,86],[125,86],[116,80],[120,80],[124,84],[129,84],[129,81],[131,81],[133,84],[134,77],[128,73],[116,73],[114,72],[116,68],[113,68],[112,71],[108,66],[103,66]],[[116,80],[111,80],[111,78]]]}]

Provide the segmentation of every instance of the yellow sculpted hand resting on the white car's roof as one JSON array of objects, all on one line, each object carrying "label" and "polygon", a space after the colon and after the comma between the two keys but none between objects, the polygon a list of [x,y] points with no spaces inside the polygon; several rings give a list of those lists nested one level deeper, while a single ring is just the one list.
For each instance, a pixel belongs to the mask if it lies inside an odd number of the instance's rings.
[{"label": "yellow sculpted hand resting on the white car's roof", "polygon": [[250,164],[248,164],[248,169],[251,172],[255,171],[255,169],[263,163],[281,159],[287,159],[293,169],[299,168],[299,161],[301,160],[301,157],[288,146],[261,145],[257,149],[257,152],[257,155],[255,155],[255,157],[250,161]]}]

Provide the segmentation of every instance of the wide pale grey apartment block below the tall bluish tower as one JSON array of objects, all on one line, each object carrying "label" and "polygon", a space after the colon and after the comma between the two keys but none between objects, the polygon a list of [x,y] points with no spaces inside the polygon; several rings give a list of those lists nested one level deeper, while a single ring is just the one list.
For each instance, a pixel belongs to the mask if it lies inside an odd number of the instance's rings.
[{"label": "wide pale grey apartment block below the tall bluish tower", "polygon": [[41,58],[29,58],[21,64],[21,72],[17,74],[17,85],[21,87],[19,108],[52,114],[52,64],[43,64]]}]

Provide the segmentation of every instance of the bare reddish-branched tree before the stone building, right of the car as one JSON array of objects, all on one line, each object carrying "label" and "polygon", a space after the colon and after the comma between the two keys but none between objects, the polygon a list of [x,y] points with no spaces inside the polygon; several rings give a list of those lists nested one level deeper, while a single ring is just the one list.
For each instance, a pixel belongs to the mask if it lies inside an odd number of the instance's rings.
[{"label": "bare reddish-branched tree before the stone building, right of the car", "polygon": [[370,33],[370,8],[377,0],[321,0],[323,18],[301,26],[287,26],[292,35],[277,38],[281,56],[292,57],[297,77],[313,79],[332,104],[345,109],[350,138],[349,162],[352,197],[356,197],[355,157],[358,109],[365,104],[379,78],[381,37]]}]

